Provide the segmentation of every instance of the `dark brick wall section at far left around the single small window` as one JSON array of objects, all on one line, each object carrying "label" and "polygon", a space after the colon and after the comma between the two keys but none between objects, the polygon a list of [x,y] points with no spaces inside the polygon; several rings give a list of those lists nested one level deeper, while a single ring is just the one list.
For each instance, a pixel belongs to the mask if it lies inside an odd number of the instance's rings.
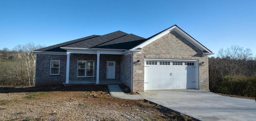
[{"label": "dark brick wall section at far left around the single small window", "polygon": [[[66,81],[66,55],[36,55],[35,85],[61,85]],[[60,74],[50,75],[50,60],[60,60]]]}]

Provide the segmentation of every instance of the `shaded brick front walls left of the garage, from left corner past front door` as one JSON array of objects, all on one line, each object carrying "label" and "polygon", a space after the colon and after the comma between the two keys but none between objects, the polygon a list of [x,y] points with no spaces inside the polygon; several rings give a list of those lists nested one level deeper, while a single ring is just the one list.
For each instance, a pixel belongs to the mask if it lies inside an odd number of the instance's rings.
[{"label": "shaded brick front walls left of the garage, from left corner past front door", "polygon": [[[106,80],[106,62],[116,61],[115,79],[120,80],[121,56],[100,55],[99,80]],[[66,82],[66,55],[36,55],[36,86],[61,85]],[[60,60],[60,74],[50,75],[50,60]],[[77,61],[94,61],[94,77],[77,77]],[[70,54],[69,80],[96,80],[97,55]]]}]

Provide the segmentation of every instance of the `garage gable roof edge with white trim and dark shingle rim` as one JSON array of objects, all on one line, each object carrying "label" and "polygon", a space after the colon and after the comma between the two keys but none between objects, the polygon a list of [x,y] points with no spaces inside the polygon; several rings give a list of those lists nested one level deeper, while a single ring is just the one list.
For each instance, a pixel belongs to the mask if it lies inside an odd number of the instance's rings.
[{"label": "garage gable roof edge with white trim and dark shingle rim", "polygon": [[201,51],[203,51],[203,55],[212,55],[214,53],[212,53],[212,51],[210,51],[209,49],[207,49],[204,45],[202,45],[201,43],[199,43],[196,39],[194,39],[193,37],[191,37],[190,35],[188,35],[188,33],[186,33],[185,31],[183,31],[182,29],[180,29],[180,27],[178,27],[177,25],[173,25],[151,37],[149,37],[146,41],[144,41],[143,43],[141,43],[140,45],[133,47],[132,50],[138,49],[138,48],[142,48],[146,45],[148,45],[149,43],[152,43],[153,41],[159,39],[160,37],[170,33],[171,31],[176,31],[178,34],[180,34],[182,37],[184,37],[186,40],[188,40],[190,43],[192,43],[193,45],[195,45],[198,49],[200,49]]}]

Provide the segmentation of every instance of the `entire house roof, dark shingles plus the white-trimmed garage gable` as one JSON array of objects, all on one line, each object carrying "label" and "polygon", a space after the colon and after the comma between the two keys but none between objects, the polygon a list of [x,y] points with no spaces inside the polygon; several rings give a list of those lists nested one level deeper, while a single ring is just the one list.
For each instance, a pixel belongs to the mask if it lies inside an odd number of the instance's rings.
[{"label": "entire house roof, dark shingles plus the white-trimmed garage gable", "polygon": [[42,49],[37,49],[34,52],[67,52],[67,49],[122,49],[123,53],[128,53],[128,51],[133,51],[137,53],[141,51],[141,48],[152,43],[153,41],[159,39],[160,37],[170,33],[171,31],[176,31],[190,43],[195,45],[198,49],[203,52],[203,56],[212,55],[212,51],[207,49],[204,45],[199,43],[196,39],[188,35],[185,31],[180,29],[177,25],[173,25],[151,37],[145,39],[134,34],[124,33],[122,31],[115,31],[105,35],[91,35],[88,37],[83,37],[80,39],[75,39],[65,43],[60,43],[57,45],[52,45]]}]

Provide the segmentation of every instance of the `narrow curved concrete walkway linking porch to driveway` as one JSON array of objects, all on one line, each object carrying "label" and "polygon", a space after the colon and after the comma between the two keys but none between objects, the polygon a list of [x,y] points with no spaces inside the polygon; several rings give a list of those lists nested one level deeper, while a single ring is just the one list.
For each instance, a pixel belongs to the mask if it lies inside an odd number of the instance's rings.
[{"label": "narrow curved concrete walkway linking porch to driveway", "polygon": [[139,94],[129,95],[125,94],[119,85],[108,85],[108,90],[111,96],[115,98],[127,99],[127,100],[144,100]]}]

